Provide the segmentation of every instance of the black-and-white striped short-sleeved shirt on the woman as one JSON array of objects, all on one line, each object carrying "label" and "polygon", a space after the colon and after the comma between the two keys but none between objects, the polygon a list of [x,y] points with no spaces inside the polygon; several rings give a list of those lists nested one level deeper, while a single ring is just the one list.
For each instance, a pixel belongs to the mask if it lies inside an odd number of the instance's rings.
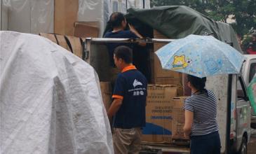
[{"label": "black-and-white striped short-sleeved shirt on the woman", "polygon": [[184,109],[194,113],[191,136],[217,132],[217,99],[211,90],[206,93],[192,94],[185,100]]}]

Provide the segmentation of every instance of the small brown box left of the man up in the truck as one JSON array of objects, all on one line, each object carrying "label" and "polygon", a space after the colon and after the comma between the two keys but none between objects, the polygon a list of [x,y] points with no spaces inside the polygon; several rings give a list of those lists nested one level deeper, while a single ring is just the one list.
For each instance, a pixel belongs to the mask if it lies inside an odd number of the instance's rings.
[{"label": "small brown box left of the man up in the truck", "polygon": [[76,37],[99,37],[99,22],[75,22],[74,36]]}]

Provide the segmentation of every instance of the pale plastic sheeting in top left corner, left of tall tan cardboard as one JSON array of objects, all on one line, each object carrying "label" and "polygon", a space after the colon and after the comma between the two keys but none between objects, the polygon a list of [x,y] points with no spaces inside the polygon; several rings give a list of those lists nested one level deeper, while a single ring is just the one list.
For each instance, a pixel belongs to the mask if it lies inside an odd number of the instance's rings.
[{"label": "pale plastic sheeting in top left corner, left of tall tan cardboard", "polygon": [[8,30],[53,33],[54,0],[3,0],[8,8]]}]

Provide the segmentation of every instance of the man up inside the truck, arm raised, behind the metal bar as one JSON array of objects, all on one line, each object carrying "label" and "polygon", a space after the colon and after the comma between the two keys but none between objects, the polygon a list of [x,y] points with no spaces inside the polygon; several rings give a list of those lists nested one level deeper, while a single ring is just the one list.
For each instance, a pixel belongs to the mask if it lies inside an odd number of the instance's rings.
[{"label": "man up inside the truck, arm raised, behind the metal bar", "polygon": [[[128,24],[130,30],[125,30],[127,26],[126,18],[123,13],[112,13],[109,18],[109,24],[112,26],[112,31],[108,31],[105,38],[143,38],[139,32],[130,24]],[[114,67],[113,52],[119,45],[127,45],[133,48],[131,43],[108,43],[107,48],[109,50],[110,64]],[[145,46],[146,43],[139,43],[139,45]]]}]

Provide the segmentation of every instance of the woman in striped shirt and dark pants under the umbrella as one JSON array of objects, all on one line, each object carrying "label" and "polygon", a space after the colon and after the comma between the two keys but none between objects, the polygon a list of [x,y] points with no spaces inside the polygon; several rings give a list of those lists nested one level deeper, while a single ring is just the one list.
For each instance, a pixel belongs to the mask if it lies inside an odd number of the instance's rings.
[{"label": "woman in striped shirt and dark pants under the umbrella", "polygon": [[206,90],[206,78],[188,75],[191,97],[185,100],[186,136],[190,135],[191,154],[220,153],[220,135],[217,125],[217,99],[211,90]]}]

